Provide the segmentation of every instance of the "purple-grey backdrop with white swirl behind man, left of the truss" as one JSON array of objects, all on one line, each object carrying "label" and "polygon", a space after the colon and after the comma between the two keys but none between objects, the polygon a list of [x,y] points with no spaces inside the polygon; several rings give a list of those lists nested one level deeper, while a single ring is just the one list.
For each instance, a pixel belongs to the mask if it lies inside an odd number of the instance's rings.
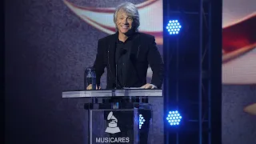
[{"label": "purple-grey backdrop with white swirl behind man, left of the truss", "polygon": [[[6,1],[6,142],[86,144],[85,100],[63,99],[62,90],[84,90],[84,70],[94,63],[98,39],[114,34],[114,7],[121,2]],[[139,30],[153,34],[162,53],[162,0],[127,2],[138,6]],[[151,138],[158,144],[162,105],[162,99],[153,102]]]}]

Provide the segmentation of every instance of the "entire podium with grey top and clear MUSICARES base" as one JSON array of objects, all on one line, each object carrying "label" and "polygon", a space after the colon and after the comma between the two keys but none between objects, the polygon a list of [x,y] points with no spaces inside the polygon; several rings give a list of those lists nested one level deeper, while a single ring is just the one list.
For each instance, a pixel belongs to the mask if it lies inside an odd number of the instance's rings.
[{"label": "entire podium with grey top and clear MUSICARES base", "polygon": [[153,144],[152,106],[149,98],[161,98],[162,90],[64,91],[62,98],[85,98],[88,144]]}]

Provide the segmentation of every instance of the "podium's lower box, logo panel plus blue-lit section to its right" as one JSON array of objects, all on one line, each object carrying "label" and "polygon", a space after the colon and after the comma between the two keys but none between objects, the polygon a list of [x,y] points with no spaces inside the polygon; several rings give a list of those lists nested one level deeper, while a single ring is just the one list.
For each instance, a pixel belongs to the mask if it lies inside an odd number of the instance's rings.
[{"label": "podium's lower box, logo panel plus blue-lit section to its right", "polygon": [[[121,109],[120,109],[121,108]],[[146,144],[151,133],[150,106],[133,109],[90,110],[90,144]]]}]

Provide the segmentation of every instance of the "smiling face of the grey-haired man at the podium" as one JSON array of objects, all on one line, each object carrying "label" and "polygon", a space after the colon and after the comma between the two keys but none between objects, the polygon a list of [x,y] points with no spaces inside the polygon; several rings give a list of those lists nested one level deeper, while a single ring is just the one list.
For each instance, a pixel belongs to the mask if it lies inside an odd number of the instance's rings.
[{"label": "smiling face of the grey-haired man at the podium", "polygon": [[126,34],[126,32],[131,29],[133,22],[133,18],[128,16],[125,11],[118,11],[116,25],[118,26],[119,33]]}]

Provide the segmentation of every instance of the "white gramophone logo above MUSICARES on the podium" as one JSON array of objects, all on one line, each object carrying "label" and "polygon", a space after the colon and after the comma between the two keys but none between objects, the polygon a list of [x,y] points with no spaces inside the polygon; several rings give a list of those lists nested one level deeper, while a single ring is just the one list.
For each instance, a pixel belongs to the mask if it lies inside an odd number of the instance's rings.
[{"label": "white gramophone logo above MUSICARES on the podium", "polygon": [[107,120],[110,121],[108,127],[106,127],[105,132],[110,134],[116,134],[121,132],[118,127],[118,119],[114,117],[113,112],[110,111],[110,114],[107,116]]}]

